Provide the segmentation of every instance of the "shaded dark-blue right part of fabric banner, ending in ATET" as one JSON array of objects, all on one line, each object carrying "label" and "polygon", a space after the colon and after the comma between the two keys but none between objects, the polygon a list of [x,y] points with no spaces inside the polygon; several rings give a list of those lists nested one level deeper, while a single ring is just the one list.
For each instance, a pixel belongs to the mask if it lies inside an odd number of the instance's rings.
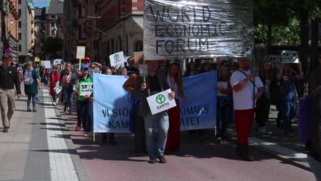
[{"label": "shaded dark-blue right part of fabric banner, ending in ATET", "polygon": [[180,130],[216,127],[217,72],[183,79],[186,104],[180,99]]}]

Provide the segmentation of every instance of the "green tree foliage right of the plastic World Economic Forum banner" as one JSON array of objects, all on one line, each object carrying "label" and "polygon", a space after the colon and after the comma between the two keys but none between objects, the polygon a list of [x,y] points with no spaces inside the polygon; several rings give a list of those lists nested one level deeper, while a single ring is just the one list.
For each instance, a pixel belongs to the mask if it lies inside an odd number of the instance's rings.
[{"label": "green tree foliage right of the plastic World Economic Forum banner", "polygon": [[300,44],[300,8],[309,12],[309,19],[321,19],[321,1],[316,0],[254,0],[255,43],[268,42],[268,26],[274,44]]}]

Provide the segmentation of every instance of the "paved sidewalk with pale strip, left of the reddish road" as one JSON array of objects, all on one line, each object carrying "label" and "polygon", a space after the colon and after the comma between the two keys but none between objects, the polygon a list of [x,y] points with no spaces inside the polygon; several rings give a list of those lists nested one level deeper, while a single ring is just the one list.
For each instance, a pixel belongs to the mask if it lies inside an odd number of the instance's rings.
[{"label": "paved sidewalk with pale strip, left of the reddish road", "polygon": [[16,99],[10,130],[0,132],[0,180],[88,180],[73,143],[64,138],[49,90],[39,95],[37,112],[26,112],[27,97]]}]

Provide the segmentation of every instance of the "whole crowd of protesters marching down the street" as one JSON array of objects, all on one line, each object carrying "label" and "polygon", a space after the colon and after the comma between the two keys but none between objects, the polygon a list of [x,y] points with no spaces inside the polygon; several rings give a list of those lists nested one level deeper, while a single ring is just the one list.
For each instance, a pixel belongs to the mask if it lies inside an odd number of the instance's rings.
[{"label": "whole crowd of protesters marching down the street", "polygon": [[[147,61],[147,82],[140,77],[133,58],[128,58],[123,67],[108,67],[91,62],[90,58],[85,58],[79,70],[75,69],[71,62],[67,62],[64,67],[55,65],[52,69],[39,67],[32,62],[18,64],[16,67],[19,82],[25,82],[25,95],[28,98],[27,112],[36,112],[41,82],[49,86],[54,104],[61,102],[66,113],[77,112],[78,123],[75,130],[83,130],[84,136],[93,136],[93,101],[95,100],[93,94],[80,95],[80,84],[83,82],[93,84],[94,73],[125,76],[128,80],[123,84],[123,88],[132,94],[132,104],[136,104],[132,107],[130,117],[135,121],[135,154],[137,156],[148,154],[150,163],[156,162],[156,159],[166,162],[163,156],[165,153],[177,152],[180,149],[178,98],[180,97],[183,103],[189,99],[185,96],[182,77],[217,71],[217,86],[213,85],[217,87],[217,143],[226,141],[227,127],[236,128],[238,138],[236,151],[243,160],[253,160],[248,152],[248,135],[252,122],[255,125],[254,132],[267,134],[271,104],[275,104],[278,109],[278,126],[283,130],[284,135],[293,136],[291,124],[296,116],[300,90],[298,80],[304,78],[300,63],[281,64],[281,68],[276,69],[271,68],[268,60],[264,60],[258,67],[258,73],[253,73],[248,58],[239,58],[237,62],[217,60],[215,64],[209,61],[202,63],[190,61],[184,73],[179,62],[168,62],[164,66],[154,60]],[[30,79],[33,81],[27,83]],[[61,89],[60,93],[56,93],[57,84]],[[148,111],[145,98],[167,88],[171,88],[172,92],[169,95],[175,98],[177,106],[161,114],[152,115]],[[74,102],[77,105],[76,110],[73,109]],[[1,106],[1,112],[3,110],[5,109]],[[7,122],[3,121],[5,128],[9,127]],[[157,139],[154,138],[154,123],[158,125]],[[8,129],[6,131],[8,132]],[[192,136],[195,132],[191,130],[189,134]],[[204,137],[204,130],[197,130],[197,133],[198,136]],[[107,138],[110,145],[117,145],[115,134],[102,134],[104,142]]]}]

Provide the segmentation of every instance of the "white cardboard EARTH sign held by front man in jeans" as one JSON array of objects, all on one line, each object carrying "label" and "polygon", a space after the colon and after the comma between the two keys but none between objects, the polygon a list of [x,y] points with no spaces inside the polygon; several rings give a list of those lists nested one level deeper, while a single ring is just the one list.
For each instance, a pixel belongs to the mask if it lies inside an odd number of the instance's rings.
[{"label": "white cardboard EARTH sign held by front man in jeans", "polygon": [[169,93],[171,93],[170,88],[156,95],[147,97],[148,106],[150,106],[150,111],[153,115],[176,106],[175,99],[170,97],[168,95]]}]

